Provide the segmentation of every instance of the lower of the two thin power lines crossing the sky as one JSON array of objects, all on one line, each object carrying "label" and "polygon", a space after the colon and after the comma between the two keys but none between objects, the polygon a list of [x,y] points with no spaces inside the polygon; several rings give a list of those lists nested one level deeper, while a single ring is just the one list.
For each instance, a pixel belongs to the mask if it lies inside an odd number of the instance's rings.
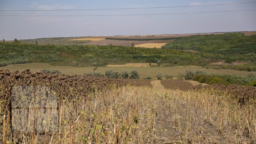
[{"label": "lower of the two thin power lines crossing the sky", "polygon": [[176,14],[203,14],[217,12],[235,12],[235,11],[255,11],[253,10],[233,10],[233,11],[208,11],[208,12],[180,12],[180,13],[165,13],[165,14],[123,14],[123,15],[0,15],[0,16],[24,16],[24,17],[57,17],[57,16],[143,16],[143,15],[176,15]]}]

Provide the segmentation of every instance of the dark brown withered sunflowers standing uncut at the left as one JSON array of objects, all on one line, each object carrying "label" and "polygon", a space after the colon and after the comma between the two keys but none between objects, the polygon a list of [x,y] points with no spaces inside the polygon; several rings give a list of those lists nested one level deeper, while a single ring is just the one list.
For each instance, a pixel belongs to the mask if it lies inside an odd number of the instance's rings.
[{"label": "dark brown withered sunflowers standing uncut at the left", "polygon": [[[126,81],[110,78],[87,77],[86,75],[48,74],[30,69],[10,72],[0,69],[0,100],[9,111],[12,86],[46,86],[57,95],[58,101],[71,100],[75,96],[86,97],[95,91],[104,91],[111,86],[124,86]],[[3,110],[2,110],[3,111]]]}]

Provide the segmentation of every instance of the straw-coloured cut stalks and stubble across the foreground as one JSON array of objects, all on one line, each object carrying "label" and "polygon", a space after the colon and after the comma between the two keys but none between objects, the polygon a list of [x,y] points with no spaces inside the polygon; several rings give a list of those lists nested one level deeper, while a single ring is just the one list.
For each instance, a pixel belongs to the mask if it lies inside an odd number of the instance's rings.
[{"label": "straw-coloured cut stalks and stubble across the foreground", "polygon": [[[76,102],[79,101],[79,102]],[[21,132],[22,143],[255,143],[256,107],[215,91],[126,86],[59,106],[57,131]],[[7,116],[7,113],[6,113]],[[2,118],[8,121],[8,116]],[[5,123],[5,132],[7,130]],[[10,131],[9,131],[10,132]],[[11,140],[5,133],[5,140]]]}]

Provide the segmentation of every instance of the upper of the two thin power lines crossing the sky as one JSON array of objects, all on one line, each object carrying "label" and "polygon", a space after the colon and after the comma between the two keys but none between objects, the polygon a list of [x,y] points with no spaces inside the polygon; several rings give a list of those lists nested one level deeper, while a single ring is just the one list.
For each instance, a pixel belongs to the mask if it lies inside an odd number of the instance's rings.
[{"label": "upper of the two thin power lines crossing the sky", "polygon": [[90,11],[90,10],[134,10],[134,9],[162,9],[174,7],[196,7],[196,6],[218,6],[218,5],[239,5],[239,4],[253,4],[256,2],[241,2],[231,4],[212,4],[212,5],[192,5],[192,6],[165,6],[165,7],[137,7],[137,8],[120,8],[120,9],[71,9],[71,10],[0,10],[0,11]]}]

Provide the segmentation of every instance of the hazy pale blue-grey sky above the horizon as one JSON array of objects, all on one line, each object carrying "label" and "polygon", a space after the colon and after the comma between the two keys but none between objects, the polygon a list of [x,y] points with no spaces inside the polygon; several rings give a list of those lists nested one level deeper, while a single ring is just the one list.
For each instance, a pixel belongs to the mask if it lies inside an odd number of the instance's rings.
[{"label": "hazy pale blue-grey sky above the horizon", "polygon": [[[0,0],[0,10],[118,9],[241,2],[256,2],[256,0]],[[249,9],[256,9],[256,3],[132,10],[0,11],[0,39],[256,31],[256,11],[79,17],[16,17],[2,15],[123,15]]]}]

